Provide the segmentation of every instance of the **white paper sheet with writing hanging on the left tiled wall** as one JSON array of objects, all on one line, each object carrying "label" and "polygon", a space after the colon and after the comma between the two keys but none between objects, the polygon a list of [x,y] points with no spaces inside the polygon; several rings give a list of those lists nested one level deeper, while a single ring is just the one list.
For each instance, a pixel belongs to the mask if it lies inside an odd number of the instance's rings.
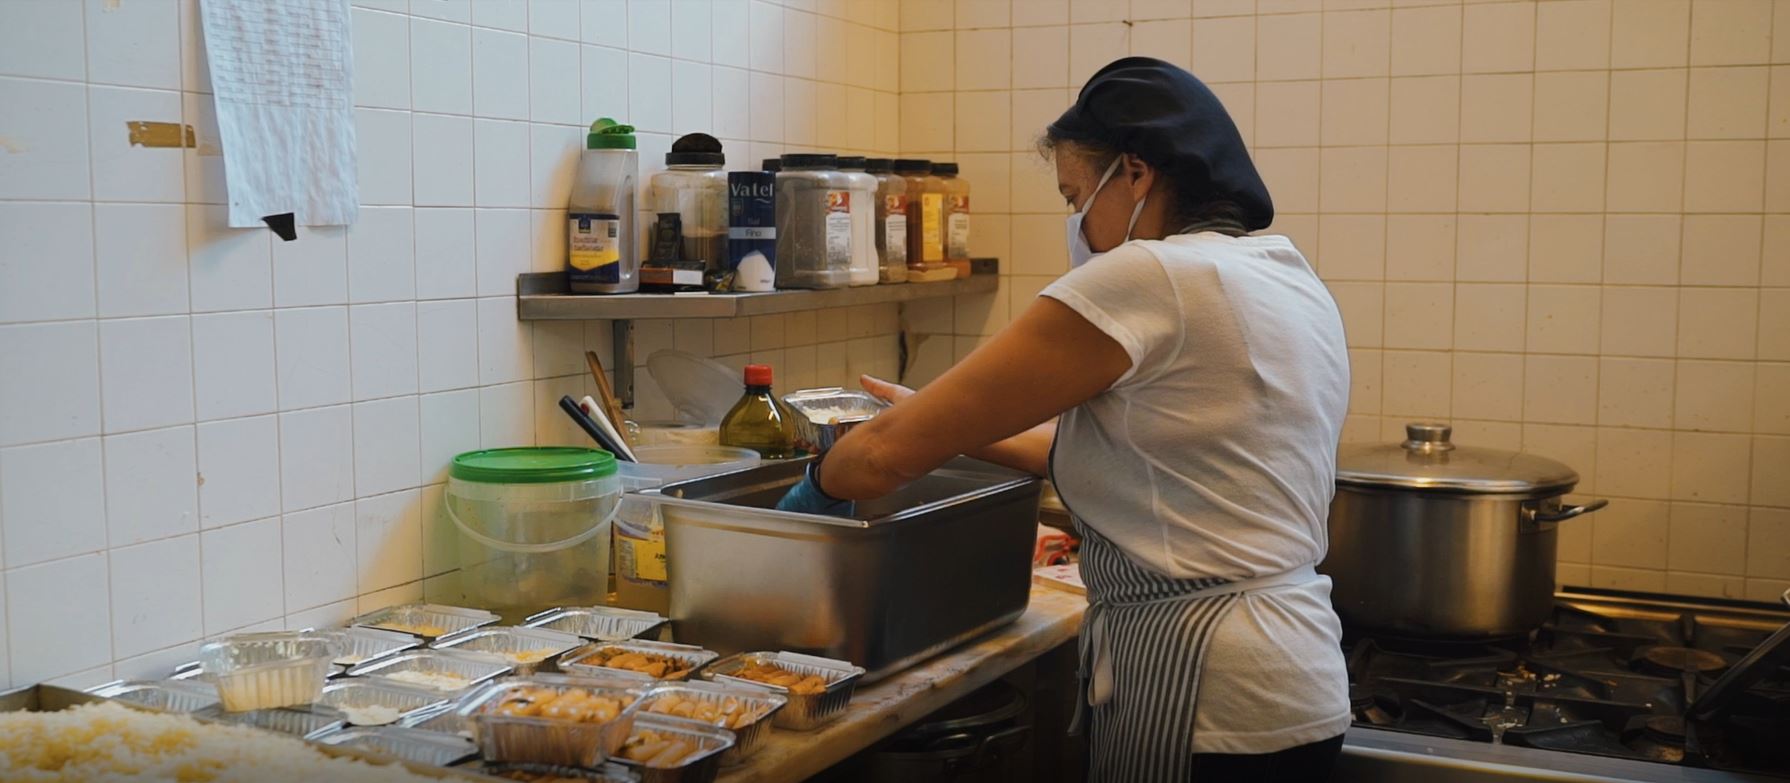
[{"label": "white paper sheet with writing hanging on the left tiled wall", "polygon": [[349,226],[354,181],[354,59],[349,0],[202,0],[224,142],[229,224]]}]

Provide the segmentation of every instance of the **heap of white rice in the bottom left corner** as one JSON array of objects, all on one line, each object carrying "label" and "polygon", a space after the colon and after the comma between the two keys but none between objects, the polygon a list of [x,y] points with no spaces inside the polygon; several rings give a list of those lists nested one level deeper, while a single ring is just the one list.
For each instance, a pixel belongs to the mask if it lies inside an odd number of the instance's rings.
[{"label": "heap of white rice in the bottom left corner", "polygon": [[0,779],[413,783],[435,778],[399,765],[326,756],[292,736],[102,702],[54,713],[0,713]]}]

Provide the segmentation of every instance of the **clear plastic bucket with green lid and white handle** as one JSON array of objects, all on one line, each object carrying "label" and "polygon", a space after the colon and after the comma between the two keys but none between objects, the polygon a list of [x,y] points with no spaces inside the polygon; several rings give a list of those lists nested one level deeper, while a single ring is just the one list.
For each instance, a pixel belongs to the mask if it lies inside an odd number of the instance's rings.
[{"label": "clear plastic bucket with green lid and white handle", "polygon": [[460,572],[431,600],[453,598],[519,620],[609,593],[609,530],[621,475],[609,452],[519,446],[453,459],[442,500],[458,529]]}]

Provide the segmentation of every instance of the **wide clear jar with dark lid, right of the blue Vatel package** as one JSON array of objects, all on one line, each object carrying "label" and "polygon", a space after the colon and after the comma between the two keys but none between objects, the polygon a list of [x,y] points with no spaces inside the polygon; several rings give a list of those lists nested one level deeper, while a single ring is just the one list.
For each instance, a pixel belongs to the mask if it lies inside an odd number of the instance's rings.
[{"label": "wide clear jar with dark lid, right of the blue Vatel package", "polygon": [[850,181],[831,154],[786,154],[777,172],[777,287],[852,283]]}]

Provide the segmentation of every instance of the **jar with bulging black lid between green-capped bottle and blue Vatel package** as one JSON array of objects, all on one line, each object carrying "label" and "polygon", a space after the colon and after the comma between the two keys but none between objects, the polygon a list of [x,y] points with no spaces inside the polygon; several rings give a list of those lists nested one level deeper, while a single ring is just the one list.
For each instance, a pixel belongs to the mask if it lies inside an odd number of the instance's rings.
[{"label": "jar with bulging black lid between green-capped bottle and blue Vatel package", "polygon": [[655,215],[641,285],[650,290],[714,290],[727,260],[727,172],[721,142],[691,133],[671,143],[666,168],[646,186]]}]

